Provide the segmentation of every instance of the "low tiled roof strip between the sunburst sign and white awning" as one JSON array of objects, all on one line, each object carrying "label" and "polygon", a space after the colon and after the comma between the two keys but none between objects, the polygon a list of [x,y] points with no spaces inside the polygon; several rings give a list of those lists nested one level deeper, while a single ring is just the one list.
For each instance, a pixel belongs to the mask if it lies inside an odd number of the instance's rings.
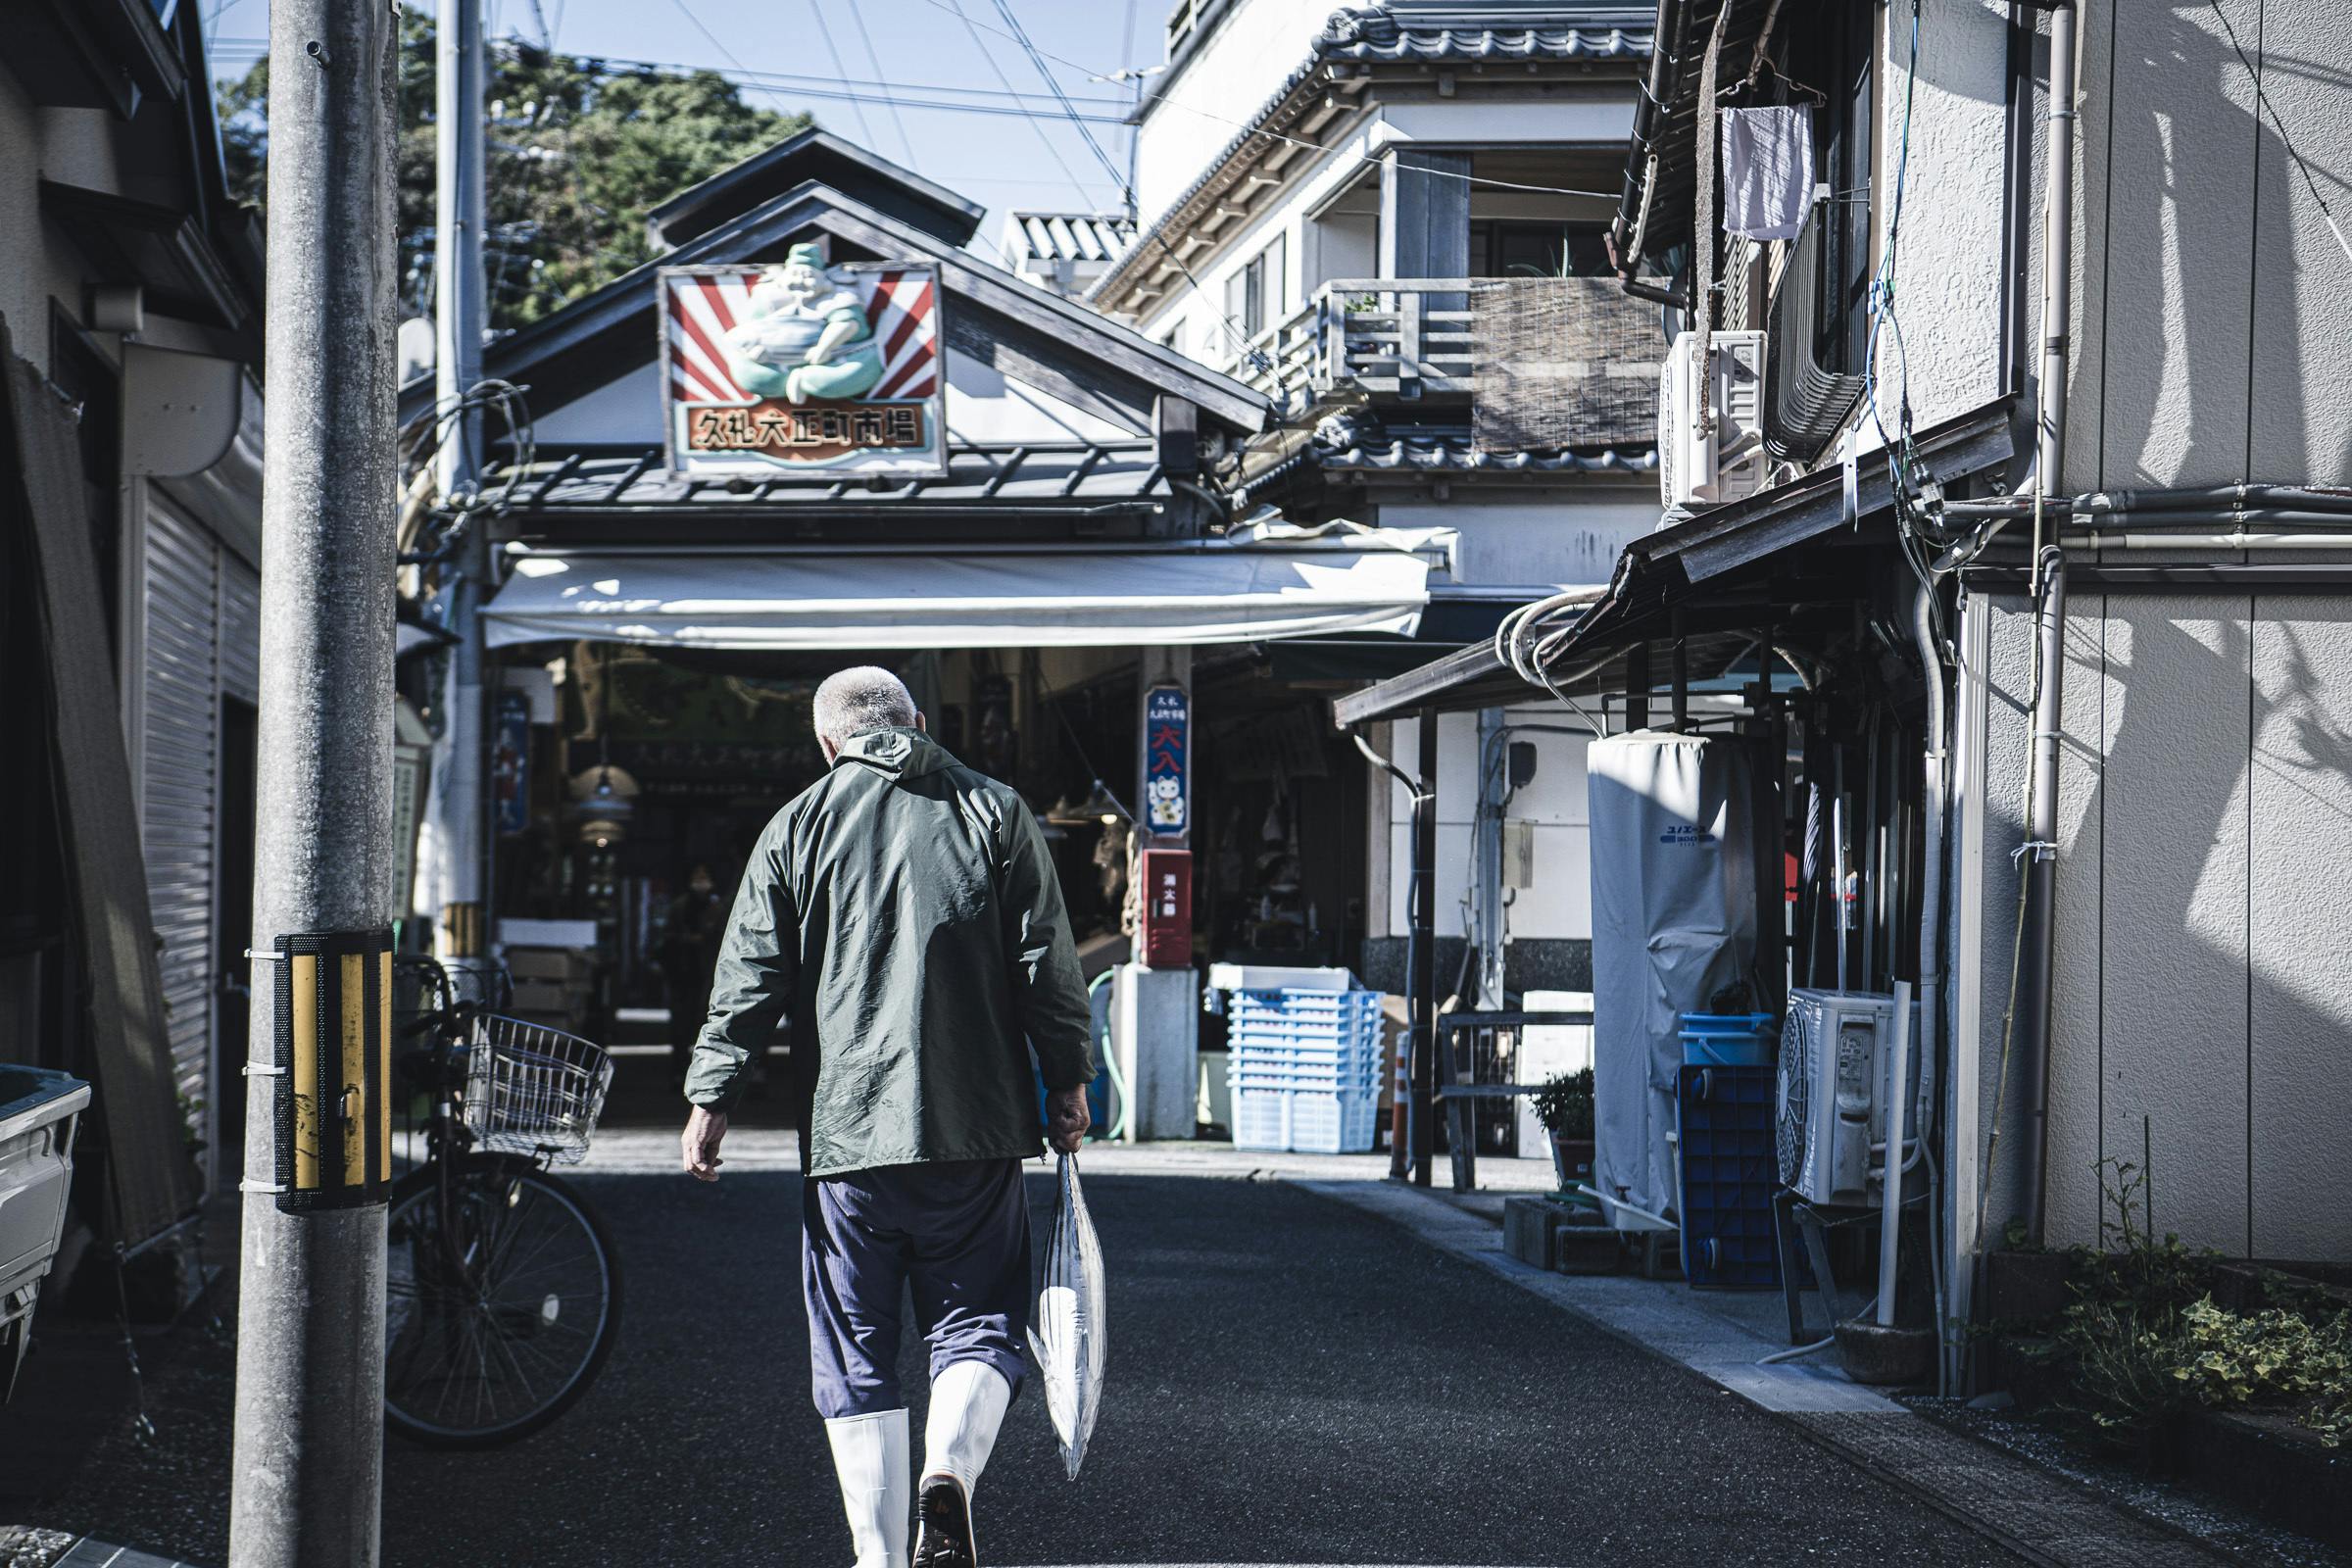
[{"label": "low tiled roof strip between the sunburst sign and white awning", "polygon": [[[946,480],[682,480],[661,447],[586,449],[541,456],[522,477],[515,512],[633,508],[701,512],[724,508],[842,510],[920,501],[927,508],[1063,510],[1164,501],[1167,475],[1152,442],[976,444],[948,449]],[[494,475],[492,484],[503,482]]]}]

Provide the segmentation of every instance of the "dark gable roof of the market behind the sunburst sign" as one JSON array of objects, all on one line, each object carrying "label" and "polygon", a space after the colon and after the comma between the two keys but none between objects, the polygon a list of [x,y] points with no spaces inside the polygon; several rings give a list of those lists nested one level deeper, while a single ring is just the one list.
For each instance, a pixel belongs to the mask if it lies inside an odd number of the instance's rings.
[{"label": "dark gable roof of the market behind the sunburst sign", "polygon": [[[1087,411],[1148,430],[1160,395],[1169,393],[1242,435],[1261,430],[1272,411],[1261,393],[1240,381],[818,181],[753,207],[489,343],[482,374],[539,388],[534,402],[541,409],[562,407],[609,381],[616,367],[654,357],[661,268],[767,261],[809,233],[891,261],[929,261],[938,268],[941,289],[955,296],[943,313],[950,348]],[[430,376],[400,388],[402,421],[430,407]]]}]

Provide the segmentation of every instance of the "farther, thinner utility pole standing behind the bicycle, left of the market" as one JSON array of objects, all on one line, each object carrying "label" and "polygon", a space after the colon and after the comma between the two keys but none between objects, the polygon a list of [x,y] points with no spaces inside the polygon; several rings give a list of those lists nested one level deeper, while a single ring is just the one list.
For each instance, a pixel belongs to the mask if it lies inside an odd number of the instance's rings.
[{"label": "farther, thinner utility pole standing behind the bicycle, left of the market", "polygon": [[[482,0],[442,0],[433,33],[433,402],[442,425],[435,489],[461,505],[480,484],[482,414],[452,418],[482,381]],[[489,585],[489,538],[468,522],[449,597],[449,677],[442,686],[442,755],[433,769],[433,903],[437,950],[449,959],[489,952],[485,860],[485,701],[482,597]]]}]

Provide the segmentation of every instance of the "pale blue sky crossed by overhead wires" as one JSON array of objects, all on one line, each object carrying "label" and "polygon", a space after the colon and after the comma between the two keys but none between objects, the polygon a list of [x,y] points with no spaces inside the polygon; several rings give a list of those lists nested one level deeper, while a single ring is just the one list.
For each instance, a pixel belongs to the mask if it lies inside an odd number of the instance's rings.
[{"label": "pale blue sky crossed by overhead wires", "polygon": [[[1164,0],[1004,2],[1037,49],[1056,56],[1047,68],[1087,115],[1117,118],[1134,92],[1131,82],[1089,82],[1091,73],[1160,63]],[[266,47],[268,0],[198,5],[214,40],[214,68],[242,75]],[[1007,207],[1115,212],[1117,183],[1061,118],[997,7],[1000,0],[482,0],[492,38],[539,40],[546,26],[567,54],[790,78],[746,87],[746,96],[804,108],[828,129],[983,202],[988,240]],[[898,101],[884,103],[870,82],[887,82]],[[1030,96],[1007,96],[1007,82]],[[821,96],[840,92],[858,96]],[[922,99],[1035,113],[920,108]],[[1124,169],[1127,127],[1087,129]]]}]

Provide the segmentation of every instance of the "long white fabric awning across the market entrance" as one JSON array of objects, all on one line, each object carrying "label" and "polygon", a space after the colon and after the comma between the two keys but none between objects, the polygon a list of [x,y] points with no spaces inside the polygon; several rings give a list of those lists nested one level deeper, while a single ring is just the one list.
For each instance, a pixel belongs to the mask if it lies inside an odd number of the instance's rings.
[{"label": "long white fabric awning across the market entrance", "polygon": [[997,550],[532,550],[492,646],[1018,649],[1411,635],[1451,531]]}]

